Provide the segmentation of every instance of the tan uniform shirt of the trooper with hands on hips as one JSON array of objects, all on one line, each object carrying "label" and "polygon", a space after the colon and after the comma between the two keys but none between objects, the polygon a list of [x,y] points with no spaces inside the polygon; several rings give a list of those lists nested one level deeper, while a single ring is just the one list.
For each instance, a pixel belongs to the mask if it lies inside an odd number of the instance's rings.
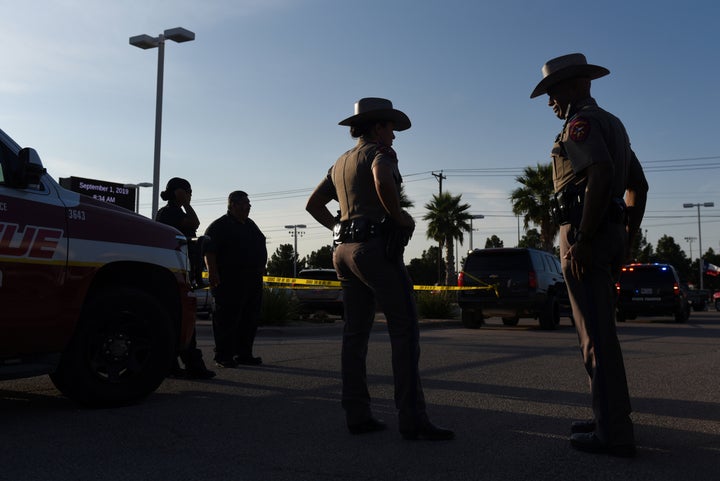
[{"label": "tan uniform shirt of the trooper with hands on hips", "polygon": [[360,217],[380,222],[387,214],[377,191],[372,169],[380,163],[393,170],[395,182],[400,185],[402,177],[398,170],[395,151],[387,146],[360,139],[357,145],[345,152],[328,171],[318,189],[340,204],[340,220]]}]

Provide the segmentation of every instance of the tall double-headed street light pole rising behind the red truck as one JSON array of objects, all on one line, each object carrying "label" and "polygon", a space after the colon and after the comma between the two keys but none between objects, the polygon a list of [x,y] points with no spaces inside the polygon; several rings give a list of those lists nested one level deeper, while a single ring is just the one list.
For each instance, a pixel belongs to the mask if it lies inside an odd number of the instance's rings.
[{"label": "tall double-headed street light pole rising behind the red truck", "polygon": [[182,27],[170,28],[159,34],[157,37],[142,34],[130,37],[130,45],[147,50],[158,49],[158,74],[157,74],[157,95],[155,98],[155,155],[153,158],[153,198],[152,215],[154,219],[158,211],[158,199],[160,197],[160,139],[162,133],[162,97],[163,97],[163,76],[165,70],[165,40],[182,43],[195,40],[195,33]]}]

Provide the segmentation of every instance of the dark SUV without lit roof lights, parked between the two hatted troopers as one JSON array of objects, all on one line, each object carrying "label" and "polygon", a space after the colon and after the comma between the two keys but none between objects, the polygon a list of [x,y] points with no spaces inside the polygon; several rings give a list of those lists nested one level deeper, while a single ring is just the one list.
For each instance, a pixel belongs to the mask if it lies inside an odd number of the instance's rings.
[{"label": "dark SUV without lit roof lights, parked between the two hatted troopers", "polygon": [[499,316],[506,326],[527,317],[538,319],[543,329],[555,329],[561,310],[569,312],[560,260],[537,249],[475,249],[468,253],[458,286],[486,288],[458,293],[462,323],[469,328]]}]

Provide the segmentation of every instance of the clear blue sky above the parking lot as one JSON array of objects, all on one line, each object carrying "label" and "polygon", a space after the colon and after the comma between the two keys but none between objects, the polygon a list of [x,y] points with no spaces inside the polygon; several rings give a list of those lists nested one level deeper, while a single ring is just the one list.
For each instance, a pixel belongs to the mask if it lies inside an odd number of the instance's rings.
[{"label": "clear blue sky above the parking lot", "polygon": [[[522,169],[549,161],[561,128],[546,97],[531,100],[546,60],[583,52],[610,69],[593,82],[625,123],[650,194],[643,229],[720,250],[720,3],[606,0],[0,0],[0,127],[34,147],[57,179],[152,180],[157,49],[128,43],[182,26],[196,40],[165,49],[161,188],[193,185],[200,231],[227,194],[250,194],[272,253],[329,244],[307,196],[354,141],[338,121],[386,97],[413,127],[395,148],[415,202],[408,256],[434,243],[420,220],[438,192],[462,194],[473,243],[517,242],[509,193]],[[141,212],[150,214],[151,189]],[[469,239],[465,239],[465,248]],[[692,244],[697,256],[698,242]],[[464,249],[463,249],[464,250]]]}]

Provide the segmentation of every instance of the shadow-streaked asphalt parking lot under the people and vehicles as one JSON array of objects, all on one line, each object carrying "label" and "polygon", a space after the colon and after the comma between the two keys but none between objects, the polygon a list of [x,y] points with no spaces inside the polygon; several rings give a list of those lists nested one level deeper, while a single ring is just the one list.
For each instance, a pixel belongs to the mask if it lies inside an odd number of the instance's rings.
[{"label": "shadow-streaked asphalt parking lot under the people and vehicles", "polygon": [[[211,358],[207,321],[200,345]],[[572,450],[570,422],[590,416],[574,329],[491,319],[423,321],[429,414],[449,442],[397,432],[384,323],[368,377],[390,429],[351,436],[339,405],[341,322],[263,327],[260,367],[211,381],[169,379],[142,404],[86,410],[47,377],[0,383],[1,480],[714,480],[720,467],[720,313],[618,327],[638,456]]]}]

